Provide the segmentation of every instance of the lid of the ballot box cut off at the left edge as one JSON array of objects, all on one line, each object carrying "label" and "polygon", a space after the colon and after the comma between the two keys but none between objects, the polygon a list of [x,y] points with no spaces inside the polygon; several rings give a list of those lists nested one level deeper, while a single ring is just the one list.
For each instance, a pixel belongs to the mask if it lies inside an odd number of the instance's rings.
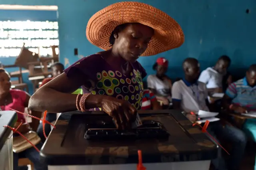
[{"label": "lid of the ballot box cut off at the left edge", "polygon": [[14,111],[0,111],[0,150],[12,131],[10,128],[4,126],[13,127],[17,119],[18,115]]}]

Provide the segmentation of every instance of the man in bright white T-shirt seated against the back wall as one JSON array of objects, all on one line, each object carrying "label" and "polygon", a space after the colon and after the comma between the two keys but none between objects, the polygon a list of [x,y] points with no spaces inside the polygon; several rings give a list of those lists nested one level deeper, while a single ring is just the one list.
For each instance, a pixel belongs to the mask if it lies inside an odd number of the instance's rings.
[{"label": "man in bright white T-shirt seated against the back wall", "polygon": [[222,93],[222,79],[226,75],[231,60],[227,55],[222,55],[214,67],[208,67],[202,71],[198,81],[205,83],[207,89],[215,89],[215,92]]}]

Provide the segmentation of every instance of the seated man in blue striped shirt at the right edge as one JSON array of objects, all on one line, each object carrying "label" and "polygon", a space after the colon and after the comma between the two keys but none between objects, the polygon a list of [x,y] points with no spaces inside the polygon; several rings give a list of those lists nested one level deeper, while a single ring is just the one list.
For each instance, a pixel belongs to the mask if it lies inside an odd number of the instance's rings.
[{"label": "seated man in blue striped shirt at the right edge", "polygon": [[[228,87],[223,101],[227,109],[236,113],[256,112],[256,64],[249,67],[246,77]],[[243,128],[256,142],[256,119],[247,119]]]}]

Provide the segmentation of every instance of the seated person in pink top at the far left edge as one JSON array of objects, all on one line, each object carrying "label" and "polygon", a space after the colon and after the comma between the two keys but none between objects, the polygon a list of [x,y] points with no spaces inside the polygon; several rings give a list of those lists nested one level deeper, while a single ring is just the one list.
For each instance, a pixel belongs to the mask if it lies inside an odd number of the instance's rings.
[{"label": "seated person in pink top at the far left edge", "polygon": [[[30,95],[25,91],[10,89],[11,81],[10,75],[4,70],[0,69],[0,110],[2,111],[10,111],[10,109],[15,109],[24,113],[25,107],[28,107],[28,101],[30,99]],[[41,117],[41,112],[32,111],[31,115],[36,117]],[[18,131],[21,133],[26,133],[31,130],[28,123],[26,123],[26,119],[23,115],[18,114],[18,121],[15,123],[14,127],[17,128],[20,123],[23,123]],[[32,119],[31,127],[32,130],[36,131],[38,127],[39,121],[36,119]],[[15,139],[14,139],[15,140]],[[42,147],[42,142],[36,145],[38,149]],[[34,170],[47,170],[47,166],[40,163],[39,161],[39,153],[32,147],[28,148],[19,153],[13,153],[13,169],[18,170],[18,159],[19,158],[28,158],[34,164]]]}]

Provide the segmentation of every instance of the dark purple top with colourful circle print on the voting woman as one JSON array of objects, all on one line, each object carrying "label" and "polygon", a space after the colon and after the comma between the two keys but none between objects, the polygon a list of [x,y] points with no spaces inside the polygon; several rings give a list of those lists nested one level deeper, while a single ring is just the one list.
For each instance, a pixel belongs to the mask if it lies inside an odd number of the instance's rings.
[{"label": "dark purple top with colourful circle print on the voting woman", "polygon": [[81,75],[81,79],[84,79],[82,86],[84,93],[108,95],[126,100],[139,110],[142,105],[142,79],[146,76],[146,72],[137,61],[132,63],[132,67],[133,70],[129,75],[123,75],[121,71],[114,70],[101,55],[95,54],[80,59],[64,72],[68,77]]}]

